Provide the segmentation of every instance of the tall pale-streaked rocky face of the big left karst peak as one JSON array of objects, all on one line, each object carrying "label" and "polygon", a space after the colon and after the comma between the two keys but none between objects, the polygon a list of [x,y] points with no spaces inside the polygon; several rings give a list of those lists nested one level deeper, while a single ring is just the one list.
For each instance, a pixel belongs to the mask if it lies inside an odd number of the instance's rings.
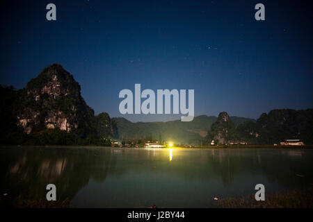
[{"label": "tall pale-streaked rocky face of the big left karst peak", "polygon": [[80,91],[79,83],[61,65],[50,65],[19,91],[17,125],[27,134],[44,128],[92,130],[94,111]]}]

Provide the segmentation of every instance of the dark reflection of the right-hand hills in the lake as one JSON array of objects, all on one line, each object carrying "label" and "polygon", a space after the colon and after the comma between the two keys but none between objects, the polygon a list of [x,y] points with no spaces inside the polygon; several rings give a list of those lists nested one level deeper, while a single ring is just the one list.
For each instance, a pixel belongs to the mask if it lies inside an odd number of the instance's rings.
[{"label": "dark reflection of the right-hand hills in the lake", "polygon": [[212,150],[207,155],[214,175],[220,175],[224,185],[232,185],[235,178],[264,175],[268,182],[293,187],[310,185],[313,179],[312,152],[300,150],[236,149]]}]

